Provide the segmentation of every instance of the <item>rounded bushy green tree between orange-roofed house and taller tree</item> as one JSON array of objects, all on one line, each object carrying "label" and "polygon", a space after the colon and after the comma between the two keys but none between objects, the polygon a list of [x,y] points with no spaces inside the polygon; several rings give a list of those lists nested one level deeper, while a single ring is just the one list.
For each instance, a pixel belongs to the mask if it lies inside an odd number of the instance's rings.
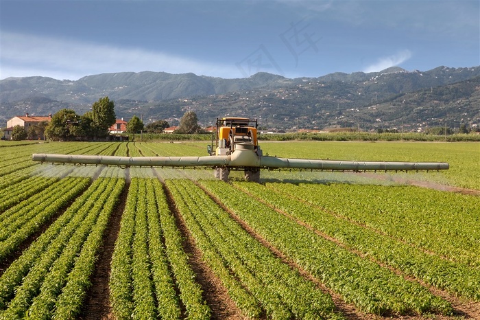
[{"label": "rounded bushy green tree between orange-roofed house and taller tree", "polygon": [[80,126],[80,116],[71,109],[61,109],[51,117],[51,122],[45,129],[45,136],[51,140],[74,140],[84,135]]}]

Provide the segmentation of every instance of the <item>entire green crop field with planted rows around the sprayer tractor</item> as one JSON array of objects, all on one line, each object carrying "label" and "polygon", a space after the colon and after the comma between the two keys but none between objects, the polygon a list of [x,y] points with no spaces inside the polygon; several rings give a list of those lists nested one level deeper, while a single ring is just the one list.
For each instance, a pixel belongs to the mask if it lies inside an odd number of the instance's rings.
[{"label": "entire green crop field with planted rows around the sprayer tractor", "polygon": [[480,144],[263,142],[443,172],[52,165],[202,142],[0,142],[0,319],[480,319]]}]

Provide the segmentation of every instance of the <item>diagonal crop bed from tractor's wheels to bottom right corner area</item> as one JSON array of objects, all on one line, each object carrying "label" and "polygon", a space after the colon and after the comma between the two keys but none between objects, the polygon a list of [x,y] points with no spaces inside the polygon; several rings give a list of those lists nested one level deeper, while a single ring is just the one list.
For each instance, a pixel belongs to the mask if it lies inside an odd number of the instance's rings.
[{"label": "diagonal crop bed from tractor's wheels to bottom right corner area", "polygon": [[220,181],[202,185],[256,233],[361,310],[376,315],[453,311],[420,284],[351,253],[235,187]]}]

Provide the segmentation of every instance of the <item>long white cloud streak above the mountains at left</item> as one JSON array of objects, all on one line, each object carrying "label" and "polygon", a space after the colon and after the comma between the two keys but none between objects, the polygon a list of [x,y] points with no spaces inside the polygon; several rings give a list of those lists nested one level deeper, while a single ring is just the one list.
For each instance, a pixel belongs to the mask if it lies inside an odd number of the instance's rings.
[{"label": "long white cloud streak above the mountains at left", "polygon": [[69,39],[1,32],[0,78],[49,76],[77,80],[98,73],[123,71],[193,72],[232,78],[235,65],[215,65],[145,49],[121,48]]}]

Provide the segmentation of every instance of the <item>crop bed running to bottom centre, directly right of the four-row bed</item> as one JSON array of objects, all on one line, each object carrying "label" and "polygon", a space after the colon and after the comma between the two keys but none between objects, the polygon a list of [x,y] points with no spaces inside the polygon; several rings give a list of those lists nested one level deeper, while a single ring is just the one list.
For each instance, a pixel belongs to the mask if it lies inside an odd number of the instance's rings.
[{"label": "crop bed running to bottom centre, directly right of the four-row bed", "polygon": [[[264,313],[272,319],[339,319],[329,295],[298,271],[275,258],[191,181],[167,181],[187,226],[202,246],[208,263],[224,265],[231,274],[221,279],[237,306],[249,317]],[[238,279],[238,284],[232,283]],[[240,290],[244,288],[244,290]],[[252,299],[253,298],[253,299]]]}]

